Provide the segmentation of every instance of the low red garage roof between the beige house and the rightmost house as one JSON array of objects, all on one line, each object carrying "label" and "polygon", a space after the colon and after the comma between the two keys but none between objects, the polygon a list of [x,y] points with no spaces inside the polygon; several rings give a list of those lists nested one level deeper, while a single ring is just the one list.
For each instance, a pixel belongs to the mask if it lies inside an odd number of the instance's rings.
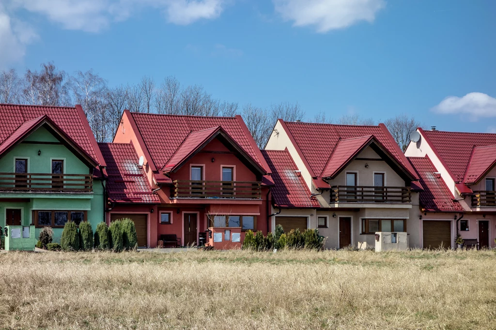
[{"label": "low red garage roof between the beige house and the rightmost house", "polygon": [[463,208],[454,202],[444,180],[439,174],[434,174],[436,169],[429,157],[408,157],[410,163],[420,177],[424,188],[419,194],[420,205],[431,212],[462,212]]}]

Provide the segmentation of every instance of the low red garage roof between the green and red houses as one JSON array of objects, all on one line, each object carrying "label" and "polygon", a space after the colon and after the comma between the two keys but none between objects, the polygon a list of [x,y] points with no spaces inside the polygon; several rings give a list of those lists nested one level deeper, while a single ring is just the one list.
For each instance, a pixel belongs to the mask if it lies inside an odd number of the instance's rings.
[{"label": "low red garage roof between the green and red houses", "polygon": [[109,199],[120,203],[160,203],[152,193],[145,173],[138,166],[138,156],[132,144],[99,143],[107,162]]}]

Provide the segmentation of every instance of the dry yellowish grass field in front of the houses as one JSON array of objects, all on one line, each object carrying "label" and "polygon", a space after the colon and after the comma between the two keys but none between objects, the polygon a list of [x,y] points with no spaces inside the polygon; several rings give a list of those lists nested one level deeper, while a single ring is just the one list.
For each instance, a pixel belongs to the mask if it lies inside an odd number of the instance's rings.
[{"label": "dry yellowish grass field in front of the houses", "polygon": [[496,329],[496,253],[1,253],[0,328]]}]

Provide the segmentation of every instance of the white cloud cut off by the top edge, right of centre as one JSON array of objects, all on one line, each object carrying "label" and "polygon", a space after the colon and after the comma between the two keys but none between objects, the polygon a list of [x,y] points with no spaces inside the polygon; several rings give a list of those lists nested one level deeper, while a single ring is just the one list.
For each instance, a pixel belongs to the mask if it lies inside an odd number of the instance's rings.
[{"label": "white cloud cut off by the top edge, right of centre", "polygon": [[314,26],[317,32],[372,23],[384,0],[273,0],[275,10],[294,26]]}]

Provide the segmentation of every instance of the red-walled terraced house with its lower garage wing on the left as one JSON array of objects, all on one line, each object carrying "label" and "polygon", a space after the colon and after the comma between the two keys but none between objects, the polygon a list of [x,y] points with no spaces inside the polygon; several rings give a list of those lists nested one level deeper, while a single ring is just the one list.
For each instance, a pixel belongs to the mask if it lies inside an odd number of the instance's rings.
[{"label": "red-walled terraced house with its lower garage wing on the left", "polygon": [[140,246],[241,247],[246,230],[269,230],[270,169],[241,116],[126,110],[100,147],[107,220],[134,220]]}]

